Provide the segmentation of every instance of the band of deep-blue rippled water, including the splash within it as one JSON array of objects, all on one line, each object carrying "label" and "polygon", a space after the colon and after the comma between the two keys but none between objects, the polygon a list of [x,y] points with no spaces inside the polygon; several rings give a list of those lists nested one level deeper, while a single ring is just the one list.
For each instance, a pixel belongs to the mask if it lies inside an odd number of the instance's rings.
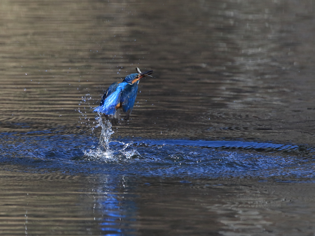
[{"label": "band of deep-blue rippled water, including the splash within it", "polygon": [[[105,124],[103,132],[108,129],[110,126]],[[245,176],[271,177],[277,181],[284,178],[285,182],[313,182],[315,177],[312,170],[315,148],[306,145],[139,138],[134,141],[107,139],[108,143],[97,144],[95,139],[82,135],[19,137],[6,134],[1,138],[7,140],[1,145],[2,162],[24,164],[25,171],[45,172],[61,165],[69,173],[104,172],[147,177]]]}]

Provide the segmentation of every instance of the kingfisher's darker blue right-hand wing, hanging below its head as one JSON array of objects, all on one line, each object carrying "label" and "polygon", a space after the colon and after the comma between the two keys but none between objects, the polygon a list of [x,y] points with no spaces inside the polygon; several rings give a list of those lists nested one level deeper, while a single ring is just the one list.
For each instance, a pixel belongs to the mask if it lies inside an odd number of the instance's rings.
[{"label": "kingfisher's darker blue right-hand wing, hanging below its head", "polygon": [[138,92],[138,83],[127,84],[121,93],[120,102],[122,103],[123,112],[126,112],[125,120],[129,119],[131,111],[135,104]]}]

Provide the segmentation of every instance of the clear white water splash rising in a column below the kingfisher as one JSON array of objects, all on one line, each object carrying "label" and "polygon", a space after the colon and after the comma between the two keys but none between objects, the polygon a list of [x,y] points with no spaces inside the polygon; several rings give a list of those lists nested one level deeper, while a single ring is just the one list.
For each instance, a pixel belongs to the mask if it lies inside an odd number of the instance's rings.
[{"label": "clear white water splash rising in a column below the kingfisher", "polygon": [[[129,146],[133,142],[121,142],[118,140],[112,140],[111,135],[114,133],[112,130],[112,123],[103,119],[101,114],[95,116],[97,122],[95,127],[92,127],[94,130],[97,127],[101,127],[100,139],[97,147],[92,146],[93,149],[83,150],[85,160],[99,160],[99,161],[119,161],[124,159],[131,159],[140,157],[140,154],[135,149],[129,149]],[[113,144],[113,147],[110,147],[110,143]]]}]

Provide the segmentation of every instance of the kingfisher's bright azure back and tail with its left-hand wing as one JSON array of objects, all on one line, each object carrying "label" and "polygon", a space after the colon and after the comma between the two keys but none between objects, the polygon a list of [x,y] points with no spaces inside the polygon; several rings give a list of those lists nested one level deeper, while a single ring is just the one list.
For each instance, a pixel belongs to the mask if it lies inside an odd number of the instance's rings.
[{"label": "kingfisher's bright azure back and tail with its left-hand wing", "polygon": [[102,97],[100,105],[95,107],[94,112],[104,113],[105,115],[114,115],[116,111],[116,105],[120,103],[121,92],[124,85],[121,83],[113,83],[106,90]]}]

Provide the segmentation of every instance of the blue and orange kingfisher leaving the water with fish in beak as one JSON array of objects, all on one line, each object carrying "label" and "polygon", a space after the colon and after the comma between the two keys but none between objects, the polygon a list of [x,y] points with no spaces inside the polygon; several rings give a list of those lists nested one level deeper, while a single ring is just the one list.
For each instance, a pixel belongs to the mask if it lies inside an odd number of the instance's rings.
[{"label": "blue and orange kingfisher leaving the water with fish in beak", "polygon": [[100,105],[93,108],[94,112],[114,115],[122,107],[126,113],[124,120],[127,121],[135,104],[140,79],[153,73],[153,70],[141,72],[138,67],[136,70],[137,73],[126,76],[123,82],[112,83],[105,91]]}]

